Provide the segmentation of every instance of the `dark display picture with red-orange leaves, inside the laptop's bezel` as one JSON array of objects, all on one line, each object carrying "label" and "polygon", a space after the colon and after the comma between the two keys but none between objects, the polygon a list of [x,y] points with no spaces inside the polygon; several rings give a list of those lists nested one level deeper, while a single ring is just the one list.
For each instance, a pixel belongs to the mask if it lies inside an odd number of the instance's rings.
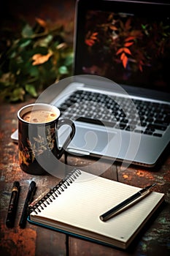
[{"label": "dark display picture with red-orange leaves, inside the laptop's bezel", "polygon": [[169,17],[88,10],[80,72],[170,92]]}]

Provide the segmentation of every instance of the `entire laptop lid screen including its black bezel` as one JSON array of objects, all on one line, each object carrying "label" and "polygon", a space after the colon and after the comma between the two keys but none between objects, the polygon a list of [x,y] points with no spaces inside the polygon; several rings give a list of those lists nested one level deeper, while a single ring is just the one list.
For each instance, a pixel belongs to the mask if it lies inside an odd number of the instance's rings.
[{"label": "entire laptop lid screen including its black bezel", "polygon": [[80,1],[76,41],[74,75],[170,92],[170,4]]}]

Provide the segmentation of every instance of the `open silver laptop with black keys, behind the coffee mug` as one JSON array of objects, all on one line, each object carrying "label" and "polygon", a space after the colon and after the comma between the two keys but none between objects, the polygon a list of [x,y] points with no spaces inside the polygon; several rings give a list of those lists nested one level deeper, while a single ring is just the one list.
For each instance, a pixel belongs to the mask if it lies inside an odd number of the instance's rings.
[{"label": "open silver laptop with black keys, behind the coffee mug", "polygon": [[170,139],[170,4],[79,0],[75,14],[74,76],[50,102],[76,125],[66,151],[155,166]]}]

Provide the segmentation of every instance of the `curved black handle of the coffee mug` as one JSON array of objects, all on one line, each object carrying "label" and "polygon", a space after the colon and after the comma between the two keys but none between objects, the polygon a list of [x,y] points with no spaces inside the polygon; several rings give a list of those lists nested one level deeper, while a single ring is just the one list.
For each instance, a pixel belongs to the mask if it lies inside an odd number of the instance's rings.
[{"label": "curved black handle of the coffee mug", "polygon": [[69,125],[72,128],[72,131],[70,132],[69,136],[66,138],[66,140],[63,143],[63,146],[61,148],[58,148],[58,159],[61,158],[64,150],[71,142],[72,138],[74,137],[74,134],[76,132],[75,124],[70,119],[59,119],[57,128],[60,129],[63,125]]}]

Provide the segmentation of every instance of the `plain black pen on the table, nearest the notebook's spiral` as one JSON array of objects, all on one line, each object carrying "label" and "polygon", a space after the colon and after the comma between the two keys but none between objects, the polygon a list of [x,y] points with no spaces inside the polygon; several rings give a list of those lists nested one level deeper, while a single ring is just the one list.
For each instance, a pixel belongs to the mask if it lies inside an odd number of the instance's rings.
[{"label": "plain black pen on the table, nearest the notebook's spiral", "polygon": [[24,203],[24,206],[23,206],[23,212],[20,217],[19,225],[22,228],[26,226],[26,219],[28,217],[28,205],[31,203],[35,192],[36,192],[36,183],[34,181],[31,181],[31,184],[29,185],[28,193],[26,196],[26,202]]}]

